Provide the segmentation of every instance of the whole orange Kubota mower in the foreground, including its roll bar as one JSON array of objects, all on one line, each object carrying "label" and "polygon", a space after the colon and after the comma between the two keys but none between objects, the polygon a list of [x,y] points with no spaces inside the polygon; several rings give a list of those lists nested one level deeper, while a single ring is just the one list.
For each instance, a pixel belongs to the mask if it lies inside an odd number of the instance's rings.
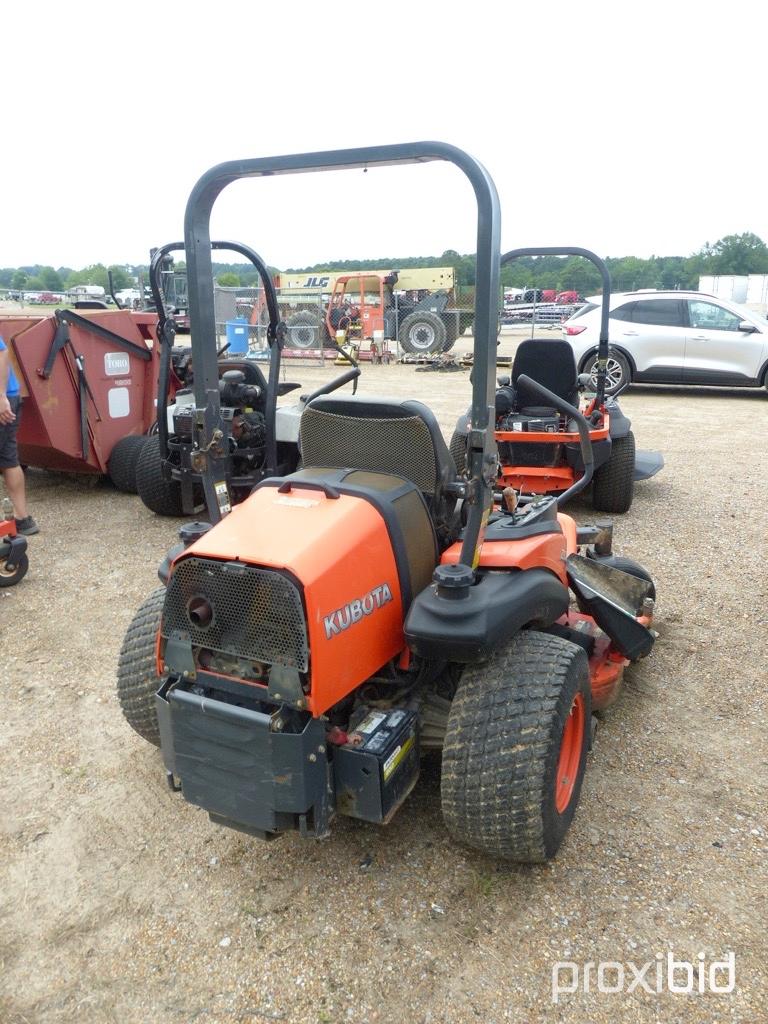
[{"label": "whole orange Kubota mower in the foreground, including its roll bar", "polygon": [[[478,204],[467,473],[419,401],[321,395],[302,468],[227,514],[209,221],[249,176],[449,161]],[[212,523],[180,530],[165,587],[125,638],[118,694],[162,748],[173,790],[218,823],[328,834],[386,822],[442,752],[445,825],[488,854],[540,861],[573,817],[593,711],[649,653],[653,584],[613,559],[606,523],[551,496],[495,492],[500,212],[487,172],[439,142],[244,160],[201,178],[185,214],[198,465]],[[526,380],[542,401],[562,400]],[[572,414],[569,414],[572,415]],[[586,472],[589,425],[574,417]]]}]

